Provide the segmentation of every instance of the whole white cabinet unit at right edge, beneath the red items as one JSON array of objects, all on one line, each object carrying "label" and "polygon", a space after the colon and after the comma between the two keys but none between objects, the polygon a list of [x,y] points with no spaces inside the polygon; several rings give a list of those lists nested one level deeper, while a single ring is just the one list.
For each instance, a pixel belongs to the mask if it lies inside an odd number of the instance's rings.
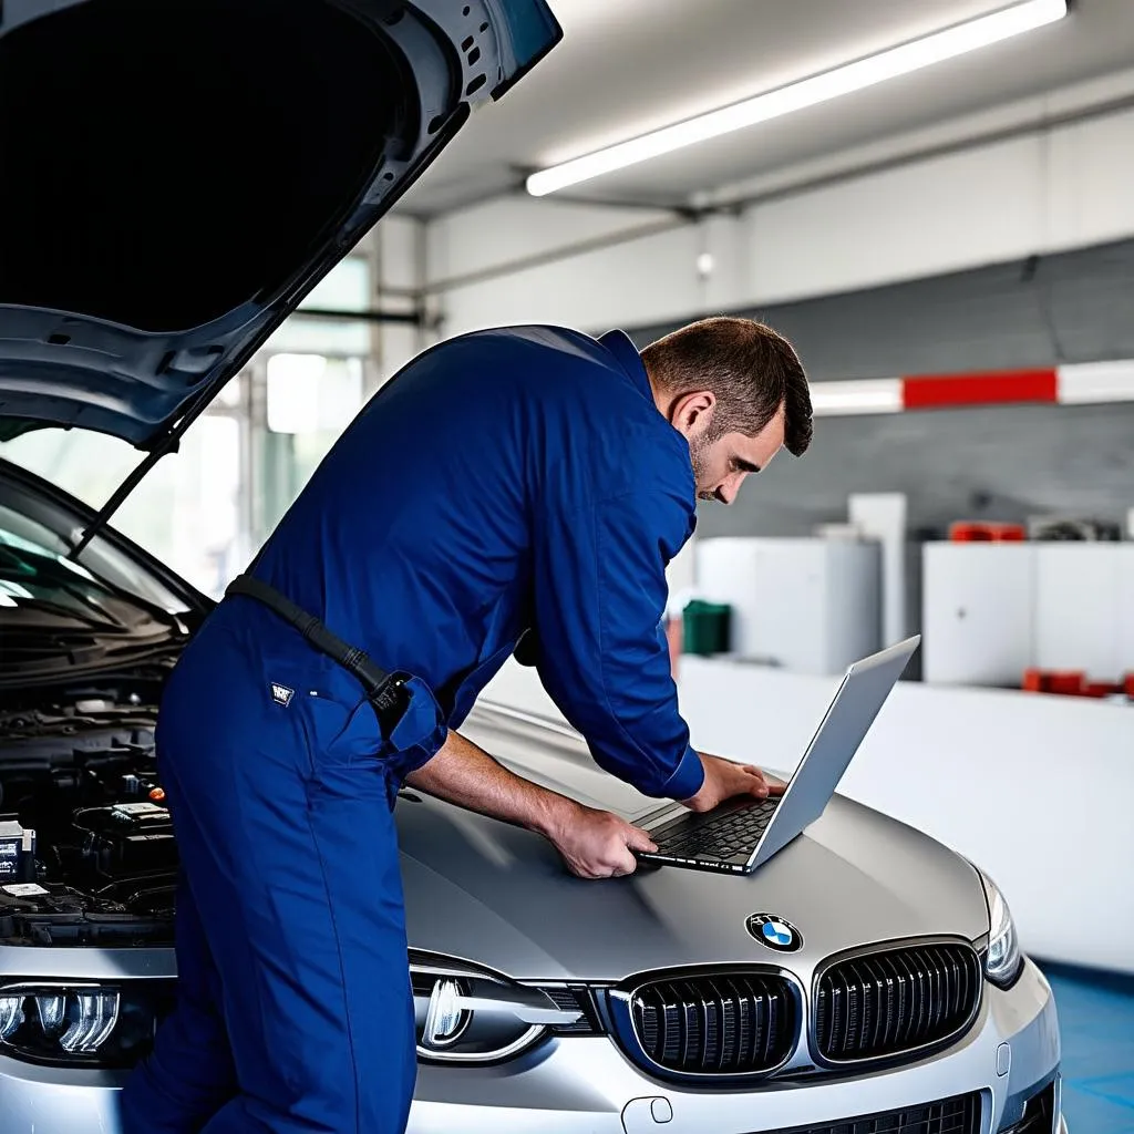
[{"label": "whole white cabinet unit at right edge, beneath the red items", "polygon": [[1134,672],[1134,543],[930,543],[923,570],[926,682]]}]

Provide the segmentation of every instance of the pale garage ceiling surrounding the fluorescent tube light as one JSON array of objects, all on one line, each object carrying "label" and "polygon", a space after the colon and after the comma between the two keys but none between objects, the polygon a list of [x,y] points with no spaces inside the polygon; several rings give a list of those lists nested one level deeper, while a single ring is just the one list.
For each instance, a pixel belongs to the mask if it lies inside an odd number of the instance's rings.
[{"label": "pale garage ceiling surrounding the fluorescent tube light", "polygon": [[[550,0],[564,42],[473,117],[401,211],[435,215],[523,175],[1006,7],[1007,0]],[[569,191],[685,201],[796,162],[1128,68],[1134,0],[691,146]],[[549,198],[555,200],[555,197]]]}]

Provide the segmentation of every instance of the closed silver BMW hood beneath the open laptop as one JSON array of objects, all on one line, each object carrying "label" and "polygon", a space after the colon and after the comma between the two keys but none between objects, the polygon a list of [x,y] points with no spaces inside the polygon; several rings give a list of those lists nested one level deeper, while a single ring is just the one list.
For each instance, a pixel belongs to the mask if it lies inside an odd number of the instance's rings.
[{"label": "closed silver BMW hood beneath the open laptop", "polygon": [[[463,733],[522,775],[627,818],[646,799],[599,770],[582,741],[476,710]],[[754,874],[640,869],[569,875],[543,838],[406,793],[396,807],[409,943],[521,980],[618,981],[689,964],[777,964],[745,928],[773,913],[798,928],[803,975],[824,957],[911,937],[989,931],[972,865],[911,828],[836,796]]]}]

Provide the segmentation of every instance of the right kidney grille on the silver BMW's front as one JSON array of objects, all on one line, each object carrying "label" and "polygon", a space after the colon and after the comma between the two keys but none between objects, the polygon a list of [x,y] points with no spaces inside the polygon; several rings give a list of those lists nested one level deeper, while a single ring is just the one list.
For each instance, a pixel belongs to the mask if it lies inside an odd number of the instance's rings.
[{"label": "right kidney grille on the silver BMW's front", "polygon": [[837,962],[819,980],[822,1059],[885,1058],[946,1042],[981,996],[980,958],[963,945],[890,949]]}]

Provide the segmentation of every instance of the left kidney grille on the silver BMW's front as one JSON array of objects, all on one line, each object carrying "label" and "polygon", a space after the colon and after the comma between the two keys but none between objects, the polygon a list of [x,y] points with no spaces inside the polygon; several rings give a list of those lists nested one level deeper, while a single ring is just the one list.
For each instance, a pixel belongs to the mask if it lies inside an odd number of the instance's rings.
[{"label": "left kidney grille on the silver BMW's front", "polygon": [[631,1010],[645,1055],[668,1070],[739,1075],[788,1057],[798,1029],[787,981],[755,974],[655,981]]}]

